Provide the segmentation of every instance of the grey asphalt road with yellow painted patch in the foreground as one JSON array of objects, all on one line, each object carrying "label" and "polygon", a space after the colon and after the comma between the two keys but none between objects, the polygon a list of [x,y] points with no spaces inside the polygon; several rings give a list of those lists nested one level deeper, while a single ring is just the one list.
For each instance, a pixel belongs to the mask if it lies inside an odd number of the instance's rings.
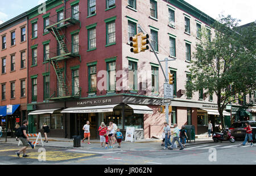
[{"label": "grey asphalt road with yellow painted patch in the foreground", "polygon": [[[212,165],[249,164],[256,165],[256,144],[251,147],[234,144],[210,143],[188,146],[184,150],[119,150],[104,148],[68,149],[37,146],[28,148],[29,157],[18,158],[15,154],[21,147],[0,144],[0,164],[2,165]],[[46,157],[43,157],[46,151]],[[20,154],[22,156],[22,154]],[[40,159],[40,161],[38,160]],[[45,161],[44,161],[45,159]]]}]

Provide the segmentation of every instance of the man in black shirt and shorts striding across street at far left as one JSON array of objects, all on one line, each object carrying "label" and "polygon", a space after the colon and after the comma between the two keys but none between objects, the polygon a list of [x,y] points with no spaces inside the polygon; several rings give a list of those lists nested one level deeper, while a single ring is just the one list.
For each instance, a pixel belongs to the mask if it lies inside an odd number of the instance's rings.
[{"label": "man in black shirt and shorts striding across street at far left", "polygon": [[19,154],[21,152],[23,152],[23,157],[28,157],[28,155],[26,154],[26,149],[28,147],[28,141],[30,140],[27,136],[27,125],[28,125],[28,121],[24,120],[22,123],[22,135],[19,137],[20,141],[22,141],[23,144],[23,148],[19,150],[19,152],[15,152],[16,155],[19,157]]}]

